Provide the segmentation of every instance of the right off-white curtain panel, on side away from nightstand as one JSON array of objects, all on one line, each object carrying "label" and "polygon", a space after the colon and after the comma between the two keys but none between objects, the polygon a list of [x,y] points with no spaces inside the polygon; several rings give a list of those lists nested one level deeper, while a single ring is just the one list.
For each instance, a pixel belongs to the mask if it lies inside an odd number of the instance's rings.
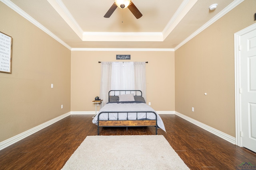
[{"label": "right off-white curtain panel, on side away from nightstand", "polygon": [[141,90],[146,101],[146,63],[134,62],[134,89]]}]

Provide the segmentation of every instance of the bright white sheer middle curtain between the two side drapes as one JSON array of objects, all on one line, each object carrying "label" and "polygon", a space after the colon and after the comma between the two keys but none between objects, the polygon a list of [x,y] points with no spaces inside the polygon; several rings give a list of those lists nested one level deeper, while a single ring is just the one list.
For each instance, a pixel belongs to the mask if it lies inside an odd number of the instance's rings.
[{"label": "bright white sheer middle curtain between the two side drapes", "polygon": [[134,63],[113,62],[111,74],[112,90],[134,90]]}]

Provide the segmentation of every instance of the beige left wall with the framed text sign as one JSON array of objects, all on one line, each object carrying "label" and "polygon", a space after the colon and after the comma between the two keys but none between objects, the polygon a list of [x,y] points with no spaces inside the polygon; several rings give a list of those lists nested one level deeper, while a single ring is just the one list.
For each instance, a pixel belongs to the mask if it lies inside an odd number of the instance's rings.
[{"label": "beige left wall with the framed text sign", "polygon": [[0,31],[13,38],[12,74],[0,72],[1,142],[70,111],[71,52],[2,2],[0,9]]}]

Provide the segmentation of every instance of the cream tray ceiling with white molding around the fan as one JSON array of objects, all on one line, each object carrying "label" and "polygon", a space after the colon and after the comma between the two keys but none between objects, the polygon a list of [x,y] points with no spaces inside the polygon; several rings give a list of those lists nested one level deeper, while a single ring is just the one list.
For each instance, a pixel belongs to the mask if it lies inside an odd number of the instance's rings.
[{"label": "cream tray ceiling with white molding around the fan", "polygon": [[[243,0],[132,0],[143,16],[114,0],[1,0],[70,49],[176,49]],[[210,11],[211,4],[218,4]]]}]

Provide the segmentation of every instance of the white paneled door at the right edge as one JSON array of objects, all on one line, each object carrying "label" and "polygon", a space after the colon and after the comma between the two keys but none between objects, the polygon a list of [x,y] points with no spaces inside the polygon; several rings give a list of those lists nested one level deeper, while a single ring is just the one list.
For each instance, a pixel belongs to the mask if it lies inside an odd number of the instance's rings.
[{"label": "white paneled door at the right edge", "polygon": [[242,146],[256,152],[256,30],[240,37]]}]

